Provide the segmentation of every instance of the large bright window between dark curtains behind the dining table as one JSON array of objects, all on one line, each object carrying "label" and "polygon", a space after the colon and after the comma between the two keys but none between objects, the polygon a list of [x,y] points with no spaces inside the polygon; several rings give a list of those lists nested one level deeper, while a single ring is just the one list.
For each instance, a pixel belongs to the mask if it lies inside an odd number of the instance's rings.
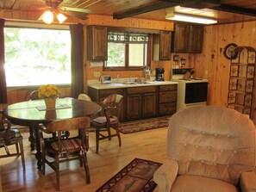
[{"label": "large bright window between dark curtains behind the dining table", "polygon": [[7,87],[71,84],[69,30],[4,28]]}]

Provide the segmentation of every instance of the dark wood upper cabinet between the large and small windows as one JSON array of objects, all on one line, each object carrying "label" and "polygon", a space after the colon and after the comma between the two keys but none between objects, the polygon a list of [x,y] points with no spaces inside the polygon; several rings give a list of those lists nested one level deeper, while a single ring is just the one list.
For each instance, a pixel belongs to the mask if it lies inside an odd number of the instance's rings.
[{"label": "dark wood upper cabinet between the large and small windows", "polygon": [[87,27],[88,60],[108,59],[108,30],[104,26]]}]

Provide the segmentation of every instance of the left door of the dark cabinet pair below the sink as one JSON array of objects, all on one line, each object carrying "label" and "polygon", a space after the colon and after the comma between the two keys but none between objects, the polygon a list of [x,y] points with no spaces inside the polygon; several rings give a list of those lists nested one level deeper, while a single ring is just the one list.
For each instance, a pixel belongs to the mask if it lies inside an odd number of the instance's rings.
[{"label": "left door of the dark cabinet pair below the sink", "polygon": [[135,120],[141,117],[141,94],[127,96],[127,119]]}]

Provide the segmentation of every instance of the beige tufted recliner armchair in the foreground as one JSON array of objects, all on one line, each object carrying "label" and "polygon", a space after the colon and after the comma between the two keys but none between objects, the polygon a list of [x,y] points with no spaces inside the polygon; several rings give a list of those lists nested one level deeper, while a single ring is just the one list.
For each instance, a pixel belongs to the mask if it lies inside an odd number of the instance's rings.
[{"label": "beige tufted recliner armchair in the foreground", "polygon": [[153,176],[159,192],[255,192],[255,127],[234,109],[178,111],[169,123],[165,164]]}]

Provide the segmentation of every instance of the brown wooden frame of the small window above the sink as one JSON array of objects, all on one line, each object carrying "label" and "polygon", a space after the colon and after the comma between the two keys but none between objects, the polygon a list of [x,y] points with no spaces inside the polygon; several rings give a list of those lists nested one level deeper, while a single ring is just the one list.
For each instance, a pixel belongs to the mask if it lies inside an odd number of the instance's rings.
[{"label": "brown wooden frame of the small window above the sink", "polygon": [[[143,69],[146,66],[151,67],[151,40],[152,35],[148,36],[148,42],[147,42],[147,62],[144,66],[129,66],[128,65],[128,45],[132,43],[126,43],[125,44],[125,66],[106,66],[106,60],[103,61],[103,71],[143,71]],[[144,48],[145,49],[145,48]],[[145,59],[145,57],[144,57]]]}]

